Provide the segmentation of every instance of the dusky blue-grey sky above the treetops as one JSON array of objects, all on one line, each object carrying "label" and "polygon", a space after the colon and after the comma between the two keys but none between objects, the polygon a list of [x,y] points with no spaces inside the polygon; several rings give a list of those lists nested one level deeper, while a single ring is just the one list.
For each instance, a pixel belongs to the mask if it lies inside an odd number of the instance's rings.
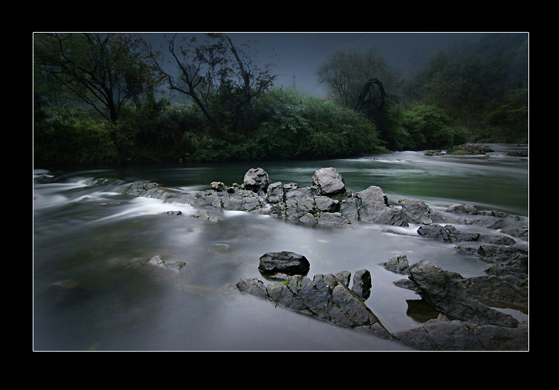
[{"label": "dusky blue-grey sky above the treetops", "polygon": [[[250,41],[262,63],[275,63],[277,85],[295,85],[318,96],[324,94],[315,74],[326,56],[336,49],[376,47],[400,72],[425,65],[441,48],[464,40],[477,41],[482,33],[227,33],[238,45]],[[191,36],[193,33],[181,33]],[[161,34],[162,35],[162,34]],[[277,58],[270,58],[277,55]],[[293,77],[295,76],[295,78]]]}]

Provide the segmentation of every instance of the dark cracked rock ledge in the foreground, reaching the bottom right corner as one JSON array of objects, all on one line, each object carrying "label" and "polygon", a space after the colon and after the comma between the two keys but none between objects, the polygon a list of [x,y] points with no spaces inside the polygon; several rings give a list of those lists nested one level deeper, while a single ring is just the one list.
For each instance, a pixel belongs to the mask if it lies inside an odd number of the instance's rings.
[{"label": "dark cracked rock ledge in the foreground, reaching the bottom right corner", "polygon": [[[528,325],[496,310],[528,310],[528,259],[514,259],[486,270],[488,276],[462,278],[422,260],[411,266],[406,256],[380,264],[408,279],[395,285],[410,288],[430,305],[436,318],[418,327],[389,332],[364,302],[371,296],[371,273],[340,271],[307,278],[305,256],[292,252],[270,252],[260,257],[262,276],[241,278],[231,285],[235,291],[269,300],[299,313],[312,315],[335,325],[400,342],[427,351],[523,351],[528,350]],[[299,270],[299,271],[297,271]],[[489,306],[491,305],[491,306]]]}]

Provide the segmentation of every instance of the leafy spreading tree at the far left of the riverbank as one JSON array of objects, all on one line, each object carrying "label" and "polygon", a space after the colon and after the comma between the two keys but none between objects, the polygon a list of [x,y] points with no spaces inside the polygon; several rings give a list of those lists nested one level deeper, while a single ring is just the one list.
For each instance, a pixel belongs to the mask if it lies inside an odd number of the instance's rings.
[{"label": "leafy spreading tree at the far left of the riverbank", "polygon": [[116,123],[127,102],[159,84],[139,36],[119,33],[37,33],[36,92],[55,89]]}]

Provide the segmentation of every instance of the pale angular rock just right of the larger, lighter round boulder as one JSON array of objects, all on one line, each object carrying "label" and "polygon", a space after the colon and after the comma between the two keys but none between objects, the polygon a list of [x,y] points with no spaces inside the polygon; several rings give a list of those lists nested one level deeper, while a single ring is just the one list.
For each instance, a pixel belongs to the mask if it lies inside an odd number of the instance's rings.
[{"label": "pale angular rock just right of the larger, lighter round boulder", "polygon": [[356,197],[361,203],[359,208],[359,219],[361,221],[393,226],[409,225],[402,210],[395,210],[390,207],[388,197],[386,197],[382,188],[371,185],[366,190],[356,193]]}]

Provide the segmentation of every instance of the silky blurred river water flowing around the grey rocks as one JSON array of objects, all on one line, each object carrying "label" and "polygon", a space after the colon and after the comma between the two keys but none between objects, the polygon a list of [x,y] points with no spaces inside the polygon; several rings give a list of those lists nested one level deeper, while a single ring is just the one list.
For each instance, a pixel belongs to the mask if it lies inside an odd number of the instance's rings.
[{"label": "silky blurred river water flowing around the grey rocks", "polygon": [[[452,244],[415,234],[417,226],[385,231],[355,223],[320,229],[276,217],[220,212],[217,223],[181,195],[212,181],[242,183],[260,166],[272,182],[312,185],[315,170],[332,166],[356,193],[383,188],[435,210],[455,203],[519,215],[528,224],[528,158],[507,156],[527,146],[491,145],[485,156],[424,156],[397,152],[328,161],[215,163],[33,172],[33,350],[406,350],[395,342],[338,327],[270,302],[230,291],[240,278],[260,278],[268,251],[294,251],[311,263],[308,276],[371,271],[366,304],[390,332],[420,325],[420,297],[393,285],[405,276],[378,264],[406,255],[464,277],[488,264],[456,253]],[[130,183],[172,188],[167,200],[123,195]],[[182,211],[169,215],[168,211]],[[218,212],[218,210],[215,210]],[[457,226],[458,229],[479,229]],[[527,243],[526,243],[527,244]],[[183,261],[180,272],[148,264],[155,255]],[[265,283],[269,283],[265,281]],[[68,286],[60,295],[53,286]],[[526,313],[509,312],[522,321]]]}]

